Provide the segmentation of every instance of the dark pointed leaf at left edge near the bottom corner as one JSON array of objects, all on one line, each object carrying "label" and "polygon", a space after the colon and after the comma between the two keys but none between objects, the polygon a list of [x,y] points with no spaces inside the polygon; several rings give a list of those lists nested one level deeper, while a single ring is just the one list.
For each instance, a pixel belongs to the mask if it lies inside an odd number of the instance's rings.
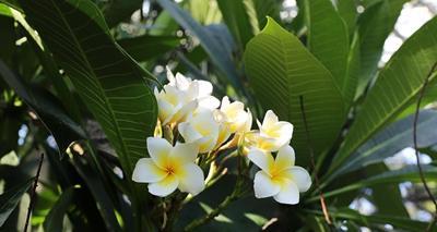
[{"label": "dark pointed leaf at left edge near the bottom corner", "polygon": [[23,184],[12,187],[0,195],[0,227],[9,218],[11,212],[15,209],[21,197],[32,186],[34,179],[26,181]]}]

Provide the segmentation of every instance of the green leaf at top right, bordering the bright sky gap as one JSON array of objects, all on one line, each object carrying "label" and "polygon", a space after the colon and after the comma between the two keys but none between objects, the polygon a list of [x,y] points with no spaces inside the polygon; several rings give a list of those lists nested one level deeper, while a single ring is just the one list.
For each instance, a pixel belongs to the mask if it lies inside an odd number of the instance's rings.
[{"label": "green leaf at top right, bordering the bright sky gap", "polygon": [[358,94],[363,93],[375,76],[382,53],[383,42],[394,28],[394,23],[408,0],[380,0],[368,7],[358,17],[361,39],[361,74]]}]

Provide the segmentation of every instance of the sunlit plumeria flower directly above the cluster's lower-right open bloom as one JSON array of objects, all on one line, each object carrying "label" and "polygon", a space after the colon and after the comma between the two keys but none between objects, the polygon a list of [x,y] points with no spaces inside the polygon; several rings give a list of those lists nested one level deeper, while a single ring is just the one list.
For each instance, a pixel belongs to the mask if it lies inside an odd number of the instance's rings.
[{"label": "sunlit plumeria flower directly above the cluster's lower-right open bloom", "polygon": [[259,134],[256,136],[259,148],[276,151],[280,147],[290,144],[293,136],[293,125],[290,122],[279,121],[273,111],[267,111],[262,124],[260,122],[257,123]]}]

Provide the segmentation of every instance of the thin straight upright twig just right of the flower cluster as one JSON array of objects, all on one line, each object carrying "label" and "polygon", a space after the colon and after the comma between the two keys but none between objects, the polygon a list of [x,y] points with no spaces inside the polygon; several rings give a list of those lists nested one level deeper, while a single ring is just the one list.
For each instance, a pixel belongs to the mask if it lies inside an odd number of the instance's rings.
[{"label": "thin straight upright twig just right of the flower cluster", "polygon": [[307,136],[307,144],[308,144],[308,149],[309,149],[309,155],[310,155],[310,159],[311,159],[311,168],[315,172],[315,181],[316,181],[316,187],[319,191],[319,198],[320,198],[320,206],[321,206],[321,210],[323,211],[323,216],[324,216],[324,220],[327,221],[328,224],[332,224],[331,222],[331,218],[329,217],[329,212],[328,212],[328,208],[327,208],[327,204],[324,203],[324,197],[323,197],[323,192],[320,188],[320,184],[319,184],[319,178],[317,175],[317,170],[316,170],[316,162],[315,162],[315,157],[314,157],[314,149],[312,149],[312,143],[311,143],[311,138],[309,136],[309,130],[308,130],[308,123],[307,123],[307,117],[305,113],[305,106],[304,106],[304,96],[299,96],[299,100],[300,100],[300,112],[302,112],[302,118],[304,120],[304,126],[305,126],[305,134]]}]

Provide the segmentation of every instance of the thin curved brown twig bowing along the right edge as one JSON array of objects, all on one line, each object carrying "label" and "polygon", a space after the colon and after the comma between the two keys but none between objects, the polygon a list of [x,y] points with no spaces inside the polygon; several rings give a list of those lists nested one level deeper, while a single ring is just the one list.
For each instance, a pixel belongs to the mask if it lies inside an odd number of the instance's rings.
[{"label": "thin curved brown twig bowing along the right edge", "polygon": [[421,181],[422,181],[422,183],[423,183],[423,185],[425,187],[425,191],[428,194],[429,199],[433,202],[434,207],[435,207],[434,219],[429,223],[429,227],[427,228],[427,231],[430,230],[432,225],[434,224],[434,221],[436,220],[436,217],[437,217],[436,216],[436,213],[437,213],[437,202],[436,202],[436,198],[434,198],[433,193],[430,192],[428,184],[426,183],[425,175],[423,173],[422,166],[421,166],[421,157],[418,155],[418,148],[417,148],[417,121],[418,121],[418,111],[421,109],[422,98],[425,95],[425,89],[426,89],[426,86],[428,85],[429,76],[433,75],[433,72],[436,69],[436,66],[437,66],[437,62],[434,63],[433,68],[430,69],[428,75],[426,75],[425,81],[424,81],[424,83],[422,85],[421,93],[418,94],[418,98],[417,98],[417,105],[416,105],[416,111],[414,113],[414,124],[413,124],[413,142],[414,142],[414,150],[415,150],[415,155],[416,155],[416,163],[417,163],[417,169],[418,169],[418,175],[421,176]]}]

